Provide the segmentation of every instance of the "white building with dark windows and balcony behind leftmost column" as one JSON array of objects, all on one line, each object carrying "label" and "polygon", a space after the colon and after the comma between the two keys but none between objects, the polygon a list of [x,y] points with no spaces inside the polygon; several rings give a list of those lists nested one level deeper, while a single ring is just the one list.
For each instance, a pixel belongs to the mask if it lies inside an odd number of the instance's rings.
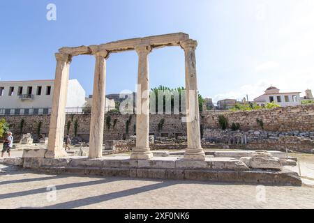
[{"label": "white building with dark windows and balcony behind leftmost column", "polygon": [[[0,114],[50,114],[54,80],[0,82]],[[77,79],[68,82],[66,112],[80,112],[85,91]]]}]

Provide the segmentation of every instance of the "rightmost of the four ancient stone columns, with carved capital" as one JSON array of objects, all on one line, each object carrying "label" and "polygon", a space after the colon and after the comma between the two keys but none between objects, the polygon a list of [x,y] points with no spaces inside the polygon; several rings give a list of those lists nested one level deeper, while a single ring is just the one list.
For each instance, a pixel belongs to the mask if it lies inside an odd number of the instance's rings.
[{"label": "rightmost of the four ancient stone columns, with carved capital", "polygon": [[186,116],[188,148],[184,160],[205,160],[205,154],[200,139],[200,112],[198,107],[198,92],[196,78],[195,49],[197,41],[181,42],[186,59]]}]

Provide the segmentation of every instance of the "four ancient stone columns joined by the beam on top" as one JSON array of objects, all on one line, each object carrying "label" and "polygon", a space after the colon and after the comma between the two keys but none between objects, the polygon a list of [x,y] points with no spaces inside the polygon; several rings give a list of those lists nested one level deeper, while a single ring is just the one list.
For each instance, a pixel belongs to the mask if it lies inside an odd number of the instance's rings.
[{"label": "four ancient stone columns joined by the beam on top", "polygon": [[[91,108],[91,129],[89,139],[89,158],[102,157],[103,129],[105,108],[106,62],[110,54],[135,50],[138,55],[138,77],[136,107],[136,146],[130,155],[131,159],[147,160],[153,157],[149,149],[149,53],[160,47],[181,46],[185,53],[186,67],[186,115],[188,148],[185,160],[205,160],[200,141],[200,114],[197,100],[197,75],[195,49],[197,41],[186,33],[173,33],[145,38],[119,40],[101,45],[63,47],[56,54],[57,68],[54,81],[52,114],[47,158],[65,157],[63,135],[66,121],[66,93],[69,78],[70,62],[74,56],[94,55],[96,57],[93,104]],[[146,92],[146,94],[144,93]],[[139,111],[140,110],[140,111]]]}]

